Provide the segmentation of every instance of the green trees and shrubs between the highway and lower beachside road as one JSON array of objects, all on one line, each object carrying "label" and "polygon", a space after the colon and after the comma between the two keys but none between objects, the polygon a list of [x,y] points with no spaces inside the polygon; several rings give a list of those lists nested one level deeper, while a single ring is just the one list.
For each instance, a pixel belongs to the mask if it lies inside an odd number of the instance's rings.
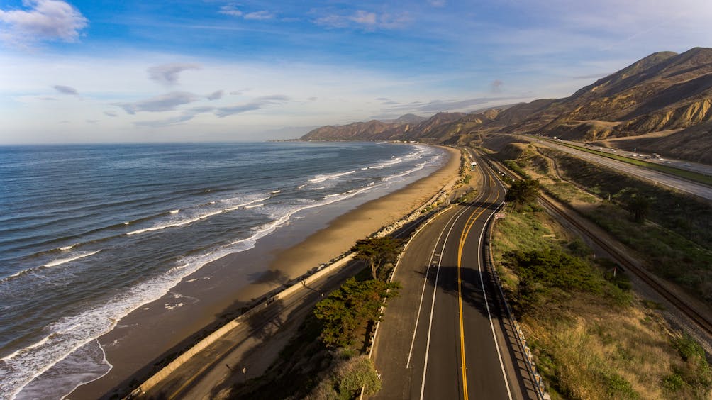
[{"label": "green trees and shrubs between the highway and lower beachside road", "polygon": [[367,356],[384,300],[398,294],[389,281],[403,243],[395,238],[357,241],[364,268],[317,303],[261,377],[234,386],[233,399],[355,399],[377,393],[381,381]]}]

